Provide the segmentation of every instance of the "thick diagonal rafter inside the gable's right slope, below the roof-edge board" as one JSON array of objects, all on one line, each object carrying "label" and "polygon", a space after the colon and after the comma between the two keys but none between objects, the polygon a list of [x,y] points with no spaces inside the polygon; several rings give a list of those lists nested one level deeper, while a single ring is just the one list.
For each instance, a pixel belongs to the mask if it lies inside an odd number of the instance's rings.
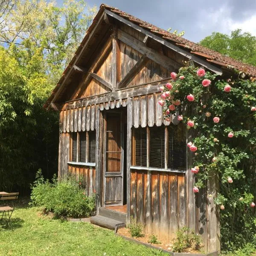
[{"label": "thick diagonal rafter inside the gable's right slope, below the roof-edge board", "polygon": [[147,56],[149,59],[160,64],[161,66],[169,70],[172,70],[173,68],[180,68],[180,64],[178,64],[176,61],[161,55],[156,50],[147,47],[143,42],[132,37],[131,35],[128,35],[120,29],[118,29],[117,36],[120,41],[128,44],[130,47]]}]

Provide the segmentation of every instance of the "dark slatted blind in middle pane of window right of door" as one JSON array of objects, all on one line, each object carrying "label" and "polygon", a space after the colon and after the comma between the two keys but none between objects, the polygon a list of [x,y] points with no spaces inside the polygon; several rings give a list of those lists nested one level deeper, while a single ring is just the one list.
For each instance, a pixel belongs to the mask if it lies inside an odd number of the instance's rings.
[{"label": "dark slatted blind in middle pane of window right of door", "polygon": [[150,132],[150,153],[149,166],[164,168],[164,140],[165,128],[164,126],[154,126],[149,128]]}]

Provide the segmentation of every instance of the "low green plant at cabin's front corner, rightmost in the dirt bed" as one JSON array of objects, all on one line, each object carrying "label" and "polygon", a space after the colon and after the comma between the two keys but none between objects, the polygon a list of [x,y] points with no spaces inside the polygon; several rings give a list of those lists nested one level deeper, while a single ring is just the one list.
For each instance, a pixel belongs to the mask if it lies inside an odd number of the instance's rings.
[{"label": "low green plant at cabin's front corner, rightmost in the dirt bed", "polygon": [[183,227],[177,230],[175,234],[172,250],[177,253],[182,253],[188,248],[200,250],[202,247],[201,243],[202,239],[198,234],[190,231],[188,227]]}]

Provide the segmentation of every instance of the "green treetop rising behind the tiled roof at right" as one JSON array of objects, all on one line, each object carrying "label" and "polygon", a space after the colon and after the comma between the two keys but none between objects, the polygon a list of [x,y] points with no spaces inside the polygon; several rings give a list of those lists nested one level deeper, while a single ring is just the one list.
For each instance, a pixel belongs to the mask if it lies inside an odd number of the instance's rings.
[{"label": "green treetop rising behind the tiled roof at right", "polygon": [[200,41],[200,44],[244,63],[256,66],[256,37],[249,32],[242,33],[241,29],[232,31],[230,35],[213,32],[212,35]]}]

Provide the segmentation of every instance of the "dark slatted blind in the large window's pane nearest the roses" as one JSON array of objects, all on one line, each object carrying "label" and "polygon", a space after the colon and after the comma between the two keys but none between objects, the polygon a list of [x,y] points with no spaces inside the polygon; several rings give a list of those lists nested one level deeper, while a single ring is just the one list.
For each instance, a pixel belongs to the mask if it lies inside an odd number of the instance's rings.
[{"label": "dark slatted blind in the large window's pane nearest the roses", "polygon": [[168,168],[186,170],[186,132],[182,123],[168,127]]}]

